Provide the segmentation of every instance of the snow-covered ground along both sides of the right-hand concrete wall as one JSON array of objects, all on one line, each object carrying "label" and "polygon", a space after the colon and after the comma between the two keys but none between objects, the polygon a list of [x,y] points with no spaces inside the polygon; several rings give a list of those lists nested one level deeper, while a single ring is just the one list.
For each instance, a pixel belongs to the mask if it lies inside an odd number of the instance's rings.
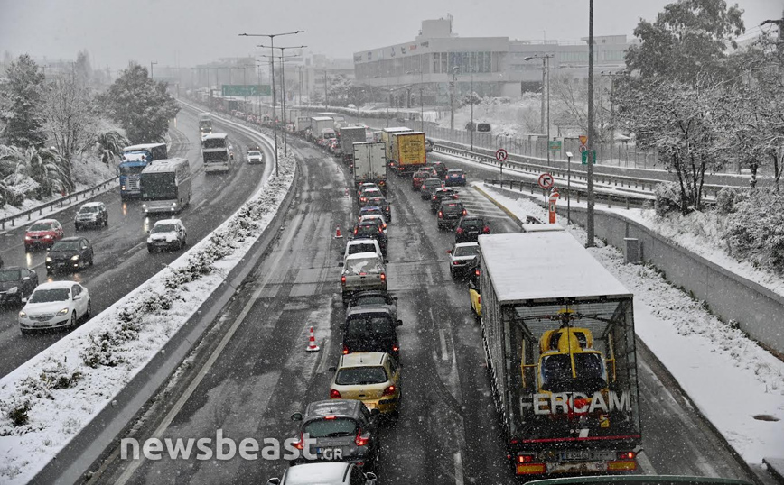
[{"label": "snow-covered ground along both sides of the right-hand concrete wall", "polygon": [[[475,185],[521,220],[526,215],[546,220],[545,209],[527,198],[516,200],[504,195],[503,190]],[[601,210],[623,215],[630,212]],[[649,215],[636,213],[636,220],[655,231],[666,233],[665,226],[675,224],[652,221]],[[582,228],[570,225],[567,230],[578,241],[586,241]],[[688,241],[689,249],[695,250],[701,244],[683,231],[672,229],[670,233]],[[765,456],[784,457],[784,362],[741,331],[723,324],[654,268],[625,264],[617,249],[599,241],[597,244],[599,247],[589,251],[634,293],[639,338],[667,367],[700,412],[746,462],[761,463]],[[706,254],[714,252],[714,248],[702,250],[706,258]]]}]

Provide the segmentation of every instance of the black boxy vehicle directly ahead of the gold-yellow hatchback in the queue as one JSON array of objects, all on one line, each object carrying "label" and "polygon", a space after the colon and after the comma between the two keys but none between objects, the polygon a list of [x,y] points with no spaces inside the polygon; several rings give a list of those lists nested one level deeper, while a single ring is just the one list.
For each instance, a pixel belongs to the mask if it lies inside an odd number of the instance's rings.
[{"label": "black boxy vehicle directly ahead of the gold-yellow hatchback in the queue", "polygon": [[397,327],[403,322],[396,320],[388,308],[351,307],[346,312],[343,327],[343,353],[387,352],[397,359],[400,343]]}]

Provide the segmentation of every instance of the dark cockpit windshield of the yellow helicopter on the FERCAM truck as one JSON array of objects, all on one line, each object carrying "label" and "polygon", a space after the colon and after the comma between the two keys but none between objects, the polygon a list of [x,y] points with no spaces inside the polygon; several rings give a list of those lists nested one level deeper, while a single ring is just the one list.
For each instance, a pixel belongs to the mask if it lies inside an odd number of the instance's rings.
[{"label": "dark cockpit windshield of the yellow helicopter on the FERCAM truck", "polygon": [[[542,390],[550,392],[583,392],[592,396],[607,387],[602,356],[593,352],[546,355],[542,358]],[[576,377],[574,377],[576,376]]]}]

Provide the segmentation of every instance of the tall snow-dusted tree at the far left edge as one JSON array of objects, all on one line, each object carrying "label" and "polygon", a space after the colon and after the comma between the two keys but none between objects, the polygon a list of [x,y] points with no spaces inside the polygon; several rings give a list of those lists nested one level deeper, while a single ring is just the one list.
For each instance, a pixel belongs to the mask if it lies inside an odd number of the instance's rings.
[{"label": "tall snow-dusted tree at the far left edge", "polygon": [[44,76],[29,55],[23,54],[6,70],[8,83],[0,91],[3,139],[19,147],[41,146],[46,141],[36,110],[43,96]]}]

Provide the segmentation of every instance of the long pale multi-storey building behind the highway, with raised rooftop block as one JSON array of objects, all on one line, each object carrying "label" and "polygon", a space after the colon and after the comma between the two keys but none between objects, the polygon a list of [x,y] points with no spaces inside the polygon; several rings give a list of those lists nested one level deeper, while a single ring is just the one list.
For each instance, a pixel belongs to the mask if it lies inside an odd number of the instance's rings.
[{"label": "long pale multi-storey building behind the highway, with raised rooftop block", "polygon": [[[509,37],[459,37],[453,17],[425,20],[414,41],[354,53],[356,83],[380,93],[393,105],[441,105],[471,90],[480,96],[521,96],[541,89],[543,61],[551,77],[587,78],[587,39],[577,42],[520,41]],[[625,67],[625,35],[594,37],[594,67],[598,72]],[[529,59],[533,58],[533,59]]]}]

